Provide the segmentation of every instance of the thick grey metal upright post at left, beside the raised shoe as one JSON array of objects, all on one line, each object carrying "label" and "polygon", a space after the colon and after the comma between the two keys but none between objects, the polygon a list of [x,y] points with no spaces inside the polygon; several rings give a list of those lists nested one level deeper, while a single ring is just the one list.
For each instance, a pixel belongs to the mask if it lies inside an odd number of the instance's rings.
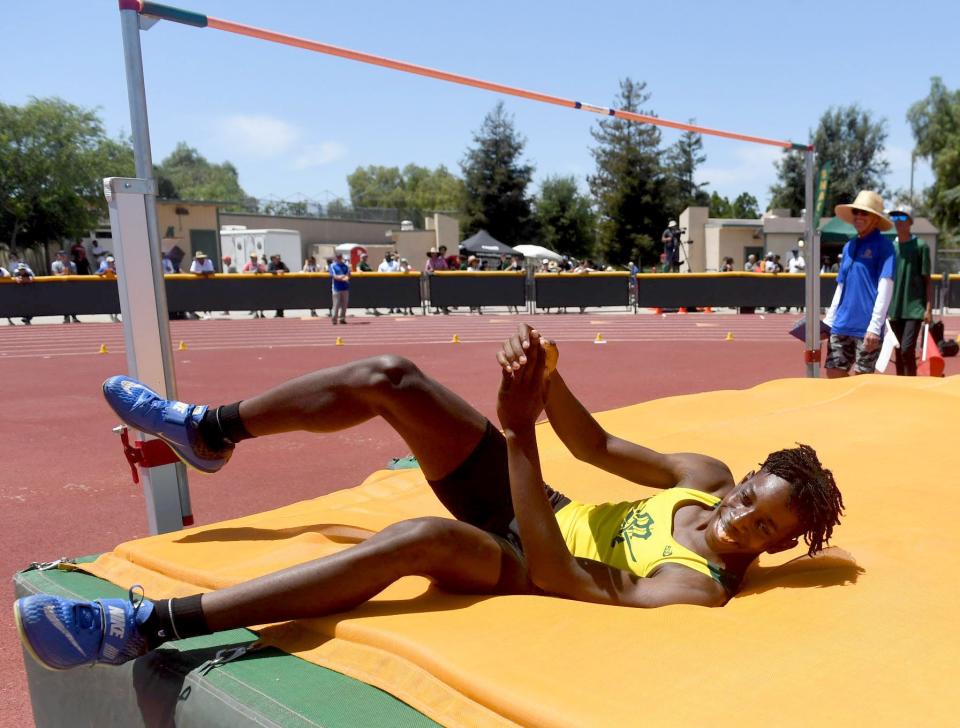
[{"label": "thick grey metal upright post at left, beside the raised shoe", "polygon": [[[130,103],[135,179],[108,178],[104,193],[110,207],[117,258],[120,312],[132,377],[176,399],[177,385],[170,346],[167,295],[163,281],[156,183],[150,154],[150,130],[140,49],[140,14],[136,3],[120,2],[120,28]],[[143,470],[147,520],[151,533],[165,533],[193,522],[186,469],[181,464]]]}]

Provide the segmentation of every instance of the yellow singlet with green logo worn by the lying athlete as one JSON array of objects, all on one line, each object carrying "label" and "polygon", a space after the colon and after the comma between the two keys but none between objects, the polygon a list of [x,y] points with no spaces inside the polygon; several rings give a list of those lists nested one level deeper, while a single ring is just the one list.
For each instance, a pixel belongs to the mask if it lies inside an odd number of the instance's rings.
[{"label": "yellow singlet with green logo worn by the lying athlete", "polygon": [[600,561],[637,576],[649,576],[663,564],[699,571],[734,591],[737,579],[673,538],[673,516],[683,503],[716,508],[720,499],[692,488],[670,488],[641,501],[577,503],[557,511],[563,540],[574,556]]}]

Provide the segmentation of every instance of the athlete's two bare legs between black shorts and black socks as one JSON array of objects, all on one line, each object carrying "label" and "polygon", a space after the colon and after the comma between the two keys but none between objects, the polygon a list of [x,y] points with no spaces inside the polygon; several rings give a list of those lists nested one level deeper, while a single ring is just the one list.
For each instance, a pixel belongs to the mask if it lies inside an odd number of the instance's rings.
[{"label": "athlete's two bare legs between black shorts and black socks", "polygon": [[[431,481],[456,470],[487,427],[461,397],[392,355],[307,374],[240,405],[244,427],[257,437],[335,432],[378,415]],[[413,574],[454,591],[529,591],[525,566],[496,537],[454,519],[419,518],[340,553],[204,594],[203,612],[214,630],[317,617],[349,610]]]}]

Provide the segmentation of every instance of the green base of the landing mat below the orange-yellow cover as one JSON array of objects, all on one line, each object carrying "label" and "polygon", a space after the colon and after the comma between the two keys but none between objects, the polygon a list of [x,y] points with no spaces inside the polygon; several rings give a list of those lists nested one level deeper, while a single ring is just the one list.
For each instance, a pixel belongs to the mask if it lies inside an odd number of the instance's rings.
[{"label": "green base of the landing mat below the orange-yellow cover", "polygon": [[[92,560],[90,557],[86,560]],[[78,561],[83,561],[79,559]],[[79,572],[24,571],[17,597],[126,597]],[[245,629],[171,642],[119,667],[46,670],[24,653],[38,726],[436,726],[378,688],[274,648],[210,667],[223,649],[249,645]]]}]

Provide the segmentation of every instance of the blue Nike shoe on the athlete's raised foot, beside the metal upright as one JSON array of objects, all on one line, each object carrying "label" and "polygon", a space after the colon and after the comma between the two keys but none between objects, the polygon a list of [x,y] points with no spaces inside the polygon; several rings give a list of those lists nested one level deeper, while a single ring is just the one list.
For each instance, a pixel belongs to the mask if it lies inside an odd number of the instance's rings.
[{"label": "blue Nike shoe on the athlete's raised foot, beside the metal upright", "polygon": [[206,405],[164,399],[145,384],[122,375],[103,383],[103,396],[127,425],[159,437],[178,458],[197,470],[215,473],[233,454],[233,445],[213,449],[200,437],[198,428]]}]

